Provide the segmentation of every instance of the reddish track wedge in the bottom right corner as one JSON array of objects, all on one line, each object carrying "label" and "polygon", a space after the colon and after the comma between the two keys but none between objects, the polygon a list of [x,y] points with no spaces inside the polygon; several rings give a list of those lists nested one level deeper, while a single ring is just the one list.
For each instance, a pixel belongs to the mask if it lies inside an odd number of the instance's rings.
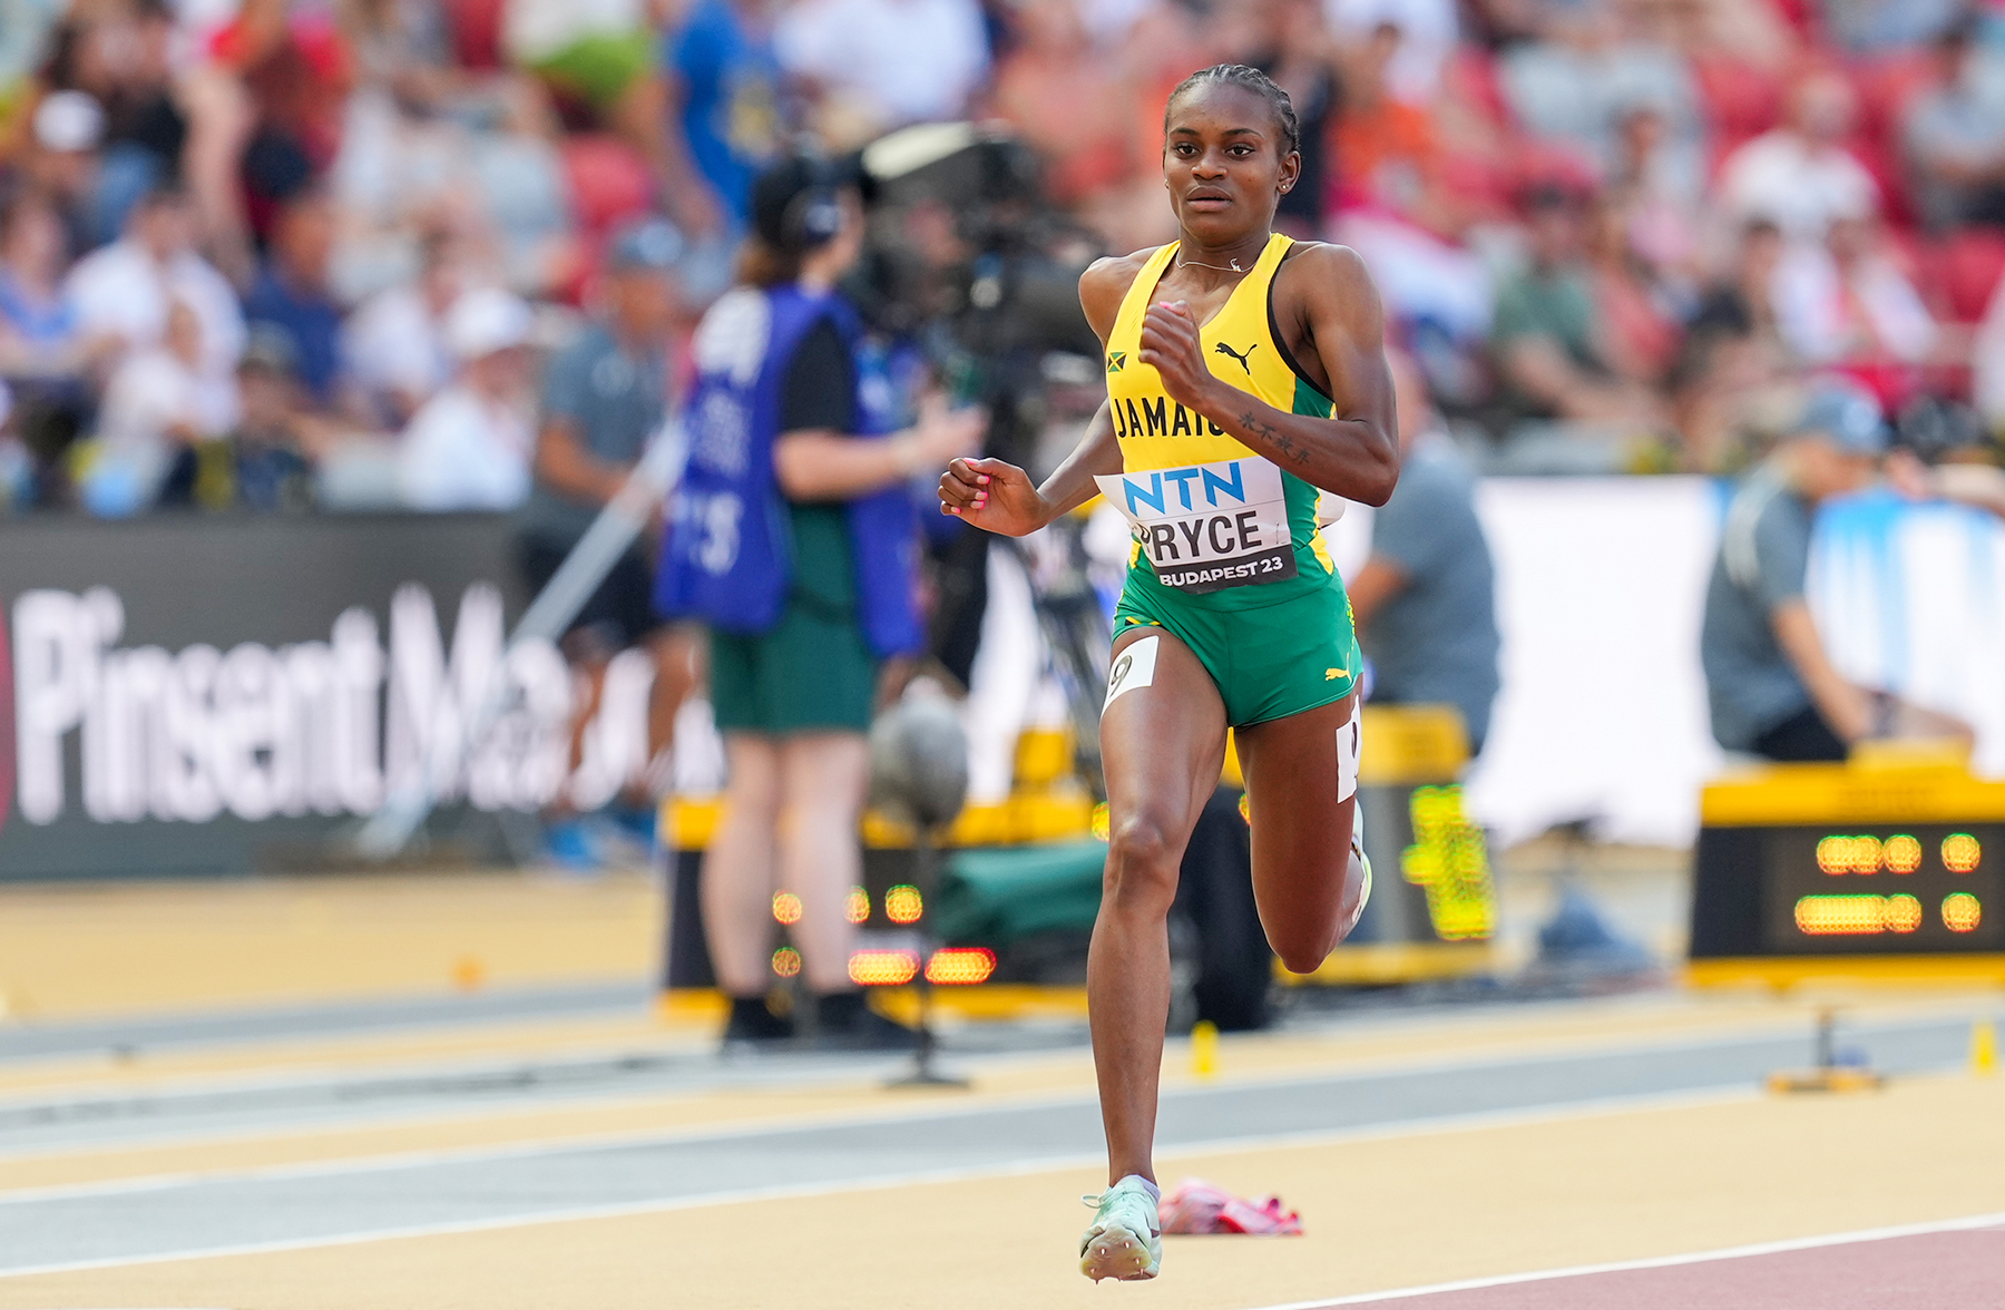
[{"label": "reddish track wedge in the bottom right corner", "polygon": [[[1837,1240],[1442,1292],[1347,1296],[1397,1310],[1983,1310],[2005,1306],[2005,1226]],[[1299,1306],[1289,1310],[1319,1310]]]}]

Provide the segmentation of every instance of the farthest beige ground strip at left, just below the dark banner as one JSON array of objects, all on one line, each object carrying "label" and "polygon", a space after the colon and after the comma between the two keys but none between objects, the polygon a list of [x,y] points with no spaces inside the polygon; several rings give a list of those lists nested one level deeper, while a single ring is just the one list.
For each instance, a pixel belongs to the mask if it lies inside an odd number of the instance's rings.
[{"label": "farthest beige ground strip at left, just below the dark banner", "polygon": [[640,875],[0,887],[0,1017],[644,981],[662,923],[660,879]]}]

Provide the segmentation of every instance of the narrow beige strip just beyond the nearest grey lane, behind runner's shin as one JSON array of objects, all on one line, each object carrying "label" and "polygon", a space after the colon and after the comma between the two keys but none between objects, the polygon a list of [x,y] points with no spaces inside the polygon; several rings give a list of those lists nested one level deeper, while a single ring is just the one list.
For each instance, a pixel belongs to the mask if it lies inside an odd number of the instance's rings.
[{"label": "narrow beige strip just beyond the nearest grey lane, behind runner's shin", "polygon": [[[1959,999],[1959,1005],[1967,1005]],[[1891,1003],[1873,1017],[1927,1017],[1939,1003]],[[1333,1033],[1257,1033],[1221,1043],[1221,1077],[1213,1085],[1259,1083],[1275,1077],[1317,1077],[1412,1067],[1442,1059],[1524,1059],[1542,1053],[1572,1053],[1620,1047],[1636,1041],[1716,1039],[1736,1033],[1807,1031],[1809,1011],[1788,1003],[1690,1003],[1676,997],[1564,1007],[1546,1013],[1442,1015],[1385,1025],[1359,1025]],[[587,1029],[589,1031],[589,1029]],[[622,1031],[616,1027],[616,1031]],[[642,1029],[634,1029],[640,1037]],[[604,1037],[604,1035],[602,1035]],[[269,1069],[319,1067],[365,1071],[391,1067],[393,1055],[409,1057],[415,1037],[379,1043],[331,1043],[313,1059],[311,1049],[295,1051]],[[457,1051],[449,1037],[433,1037],[435,1053]],[[575,1053],[561,1027],[535,1025],[509,1045],[499,1033],[463,1035],[467,1053],[555,1055]],[[612,1049],[612,1047],[608,1047]],[[241,1059],[255,1059],[243,1053]],[[142,1063],[142,1061],[134,1061]],[[740,1085],[692,1093],[646,1097],[606,1097],[571,1105],[533,1109],[493,1105],[455,1109],[449,1115],[413,1113],[365,1125],[295,1129],[261,1127],[245,1133],[205,1133],[178,1143],[118,1143],[106,1148],[60,1150],[0,1158],[0,1196],[6,1192],[98,1184],[162,1174],[233,1174],[285,1166],[369,1160],[411,1152],[461,1152],[509,1148],[541,1141],[589,1141],[634,1133],[682,1129],[758,1127],[788,1121],[824,1121],[846,1115],[896,1115],[914,1105],[1000,1103],[1015,1097],[1089,1095],[1093,1063],[1087,1051],[990,1057],[960,1061],[974,1073],[966,1091],[884,1091],[868,1079]],[[1193,1085],[1185,1043],[1171,1043],[1165,1055],[1165,1087]],[[245,1071],[237,1067],[237,1071]],[[122,1069],[108,1079],[136,1091],[150,1083],[138,1069]],[[188,1079],[182,1079],[186,1085]],[[88,1083],[86,1083],[88,1085]],[[96,1089],[104,1089],[102,1085]]]}]

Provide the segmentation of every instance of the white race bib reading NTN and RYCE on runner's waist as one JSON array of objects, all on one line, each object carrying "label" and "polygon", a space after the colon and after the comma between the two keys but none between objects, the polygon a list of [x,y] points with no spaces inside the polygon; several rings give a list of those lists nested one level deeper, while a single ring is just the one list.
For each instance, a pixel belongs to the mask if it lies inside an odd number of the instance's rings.
[{"label": "white race bib reading NTN and RYCE on runner's waist", "polygon": [[1163,586],[1217,592],[1295,576],[1281,469],[1259,457],[1095,477]]}]

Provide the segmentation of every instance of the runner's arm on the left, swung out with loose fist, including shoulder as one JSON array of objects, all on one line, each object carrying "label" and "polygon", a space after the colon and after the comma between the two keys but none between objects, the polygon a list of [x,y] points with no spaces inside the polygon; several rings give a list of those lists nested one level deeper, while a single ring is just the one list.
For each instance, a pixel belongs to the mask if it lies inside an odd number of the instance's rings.
[{"label": "runner's arm on the left, swung out with loose fist, including shoulder", "polygon": [[[1101,347],[1107,345],[1107,333],[1115,329],[1115,317],[1121,313],[1121,297],[1127,295],[1149,251],[1127,259],[1101,259],[1081,275],[1079,303]],[[976,528],[1021,538],[1093,500],[1099,489],[1093,483],[1097,475],[1119,471],[1121,443],[1115,439],[1107,401],[1101,401],[1093,421],[1087,423],[1087,433],[1045,485],[1031,485],[1029,473],[1002,459],[954,459],[940,475],[940,514],[954,514]]]}]

